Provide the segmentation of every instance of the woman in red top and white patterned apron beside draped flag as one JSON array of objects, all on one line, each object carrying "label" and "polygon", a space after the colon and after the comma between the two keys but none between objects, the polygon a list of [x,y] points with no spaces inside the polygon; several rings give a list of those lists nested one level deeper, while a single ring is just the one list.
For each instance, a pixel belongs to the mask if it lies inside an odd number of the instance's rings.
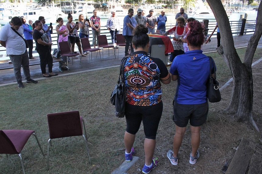
[{"label": "woman in red top and white patterned apron beside draped flag", "polygon": [[170,30],[163,33],[163,35],[174,33],[174,37],[172,41],[174,53],[172,53],[169,58],[169,61],[171,62],[174,60],[174,58],[177,55],[184,54],[183,42],[181,41],[181,38],[183,38],[184,35],[188,32],[188,28],[184,26],[185,18],[183,16],[179,16],[177,18],[177,21],[178,21],[178,26],[174,26]]}]

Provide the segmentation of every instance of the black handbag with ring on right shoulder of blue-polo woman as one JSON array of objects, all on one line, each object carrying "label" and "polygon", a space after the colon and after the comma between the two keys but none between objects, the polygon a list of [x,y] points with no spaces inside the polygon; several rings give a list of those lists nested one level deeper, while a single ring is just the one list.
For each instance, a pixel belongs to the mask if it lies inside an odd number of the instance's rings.
[{"label": "black handbag with ring on right shoulder of blue-polo woman", "polygon": [[[207,83],[207,98],[209,100],[209,102],[211,103],[215,103],[215,102],[219,102],[221,100],[221,95],[220,95],[220,91],[219,91],[219,82],[216,79],[216,75],[214,72],[214,78],[211,75],[211,65],[215,65],[214,60],[212,59],[212,57],[209,57],[209,63],[210,63],[210,72],[209,72],[209,80]],[[214,66],[215,67],[215,66]]]}]

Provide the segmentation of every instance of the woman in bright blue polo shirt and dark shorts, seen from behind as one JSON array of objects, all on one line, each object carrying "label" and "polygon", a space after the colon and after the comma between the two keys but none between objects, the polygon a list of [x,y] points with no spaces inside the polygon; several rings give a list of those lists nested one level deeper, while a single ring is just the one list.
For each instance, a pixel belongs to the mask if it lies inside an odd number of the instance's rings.
[{"label": "woman in bright blue polo shirt and dark shorts, seen from behind", "polygon": [[[209,57],[201,51],[201,45],[204,43],[203,28],[199,21],[189,22],[188,26],[190,30],[187,42],[190,51],[176,56],[170,68],[171,79],[178,80],[173,105],[176,133],[173,150],[167,152],[172,165],[178,164],[178,150],[188,121],[190,121],[192,146],[189,163],[196,163],[199,157],[200,129],[208,114],[206,84],[209,79],[210,63]],[[214,70],[215,65],[212,66],[212,74]]]}]

